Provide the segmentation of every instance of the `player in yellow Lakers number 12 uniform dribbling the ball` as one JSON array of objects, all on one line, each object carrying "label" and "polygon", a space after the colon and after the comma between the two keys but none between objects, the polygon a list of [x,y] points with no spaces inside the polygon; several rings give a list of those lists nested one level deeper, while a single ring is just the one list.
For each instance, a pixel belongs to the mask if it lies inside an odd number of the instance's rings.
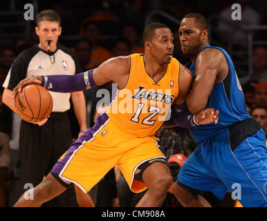
[{"label": "player in yellow Lakers number 12 uniform dribbling the ball", "polygon": [[[40,206],[59,195],[70,184],[89,191],[116,164],[131,191],[148,191],[136,206],[160,206],[172,184],[164,154],[154,136],[172,106],[174,122],[181,126],[217,123],[218,113],[206,109],[196,115],[185,110],[190,90],[190,70],[172,58],[172,31],[162,23],[151,23],[143,32],[145,55],[114,57],[98,68],[76,77],[50,75],[28,77],[14,90],[41,84],[48,90],[70,92],[118,84],[116,99],[92,128],[59,158],[49,175],[32,190],[33,199],[21,198],[15,206]],[[175,107],[175,108],[173,108]],[[175,116],[174,116],[175,115]]]}]

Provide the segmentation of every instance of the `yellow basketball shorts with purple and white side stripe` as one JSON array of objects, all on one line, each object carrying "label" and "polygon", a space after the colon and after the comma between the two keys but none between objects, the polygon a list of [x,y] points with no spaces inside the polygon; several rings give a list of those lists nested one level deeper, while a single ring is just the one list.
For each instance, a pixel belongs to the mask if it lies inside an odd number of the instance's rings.
[{"label": "yellow basketball shorts with purple and white side stripe", "polygon": [[51,173],[62,184],[74,183],[86,193],[117,164],[131,191],[140,193],[147,185],[134,179],[136,169],[148,160],[163,158],[158,138],[123,133],[104,113],[59,158]]}]

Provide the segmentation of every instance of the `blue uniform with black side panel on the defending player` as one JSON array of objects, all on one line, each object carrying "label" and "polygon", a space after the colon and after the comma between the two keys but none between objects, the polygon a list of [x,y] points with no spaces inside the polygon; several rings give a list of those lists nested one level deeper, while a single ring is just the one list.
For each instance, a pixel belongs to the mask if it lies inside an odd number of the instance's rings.
[{"label": "blue uniform with black side panel on the defending player", "polygon": [[[261,126],[246,112],[246,104],[234,64],[223,48],[228,74],[214,84],[206,108],[219,110],[218,124],[190,128],[198,148],[178,175],[177,183],[188,191],[211,191],[223,199],[230,190],[243,206],[267,206],[267,150]],[[187,66],[193,78],[195,61]],[[233,192],[234,191],[234,192]]]}]

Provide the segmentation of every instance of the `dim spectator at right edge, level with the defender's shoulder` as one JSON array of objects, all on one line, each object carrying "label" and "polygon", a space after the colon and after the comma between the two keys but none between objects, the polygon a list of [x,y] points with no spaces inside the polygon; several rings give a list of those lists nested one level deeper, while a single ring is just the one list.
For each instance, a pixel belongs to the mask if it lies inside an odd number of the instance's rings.
[{"label": "dim spectator at right edge, level with the defender's shoulder", "polygon": [[253,79],[259,82],[267,82],[267,48],[258,46],[253,51]]}]

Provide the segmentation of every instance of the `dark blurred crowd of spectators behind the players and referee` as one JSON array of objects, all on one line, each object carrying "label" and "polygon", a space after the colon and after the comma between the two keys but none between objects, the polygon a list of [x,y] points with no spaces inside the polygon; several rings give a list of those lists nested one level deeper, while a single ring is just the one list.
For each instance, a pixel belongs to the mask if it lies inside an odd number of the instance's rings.
[{"label": "dark blurred crowd of spectators behind the players and referee", "polygon": [[[16,8],[24,8],[26,1],[15,1]],[[120,55],[129,55],[131,53],[144,52],[142,46],[142,29],[145,27],[145,21],[149,12],[162,10],[168,15],[181,19],[188,12],[201,12],[205,17],[212,18],[219,15],[228,22],[230,19],[230,6],[232,3],[240,3],[242,8],[241,25],[266,25],[266,2],[267,1],[248,1],[248,0],[220,0],[220,1],[179,1],[179,0],[47,0],[38,1],[38,10],[54,9],[62,17],[62,35],[59,37],[59,44],[72,48],[80,61],[82,70],[95,68],[105,60]],[[263,6],[264,5],[264,6]],[[1,10],[10,10],[10,5],[6,1],[1,1]],[[174,23],[155,14],[150,19],[166,23],[174,32],[174,44],[176,57],[182,64],[186,64],[188,59],[183,57],[180,44],[177,38],[178,23]],[[0,17],[0,23],[5,21]],[[26,22],[26,21],[25,21]],[[35,23],[31,22],[32,31],[29,38],[8,38],[6,37],[5,28],[0,26],[0,86],[8,75],[14,59],[22,51],[39,44],[39,39],[35,35]],[[16,30],[9,30],[15,33]],[[217,38],[219,46],[226,46],[228,41],[234,44],[234,41],[243,41],[242,32],[235,32],[231,36],[229,28],[225,28],[225,23],[217,23],[217,34],[212,37]],[[213,32],[212,32],[213,34]],[[267,39],[266,30],[251,30],[253,41],[264,41]],[[212,42],[212,41],[211,41]],[[216,45],[213,45],[216,46]],[[227,48],[226,48],[227,49]],[[241,50],[237,47],[233,50]],[[229,51],[230,55],[233,51]],[[246,59],[244,62],[248,62]],[[267,135],[267,44],[255,44],[252,51],[252,75],[241,81],[248,113],[254,117]],[[238,68],[237,68],[238,69]],[[248,70],[247,70],[248,71]],[[239,73],[237,73],[239,75]],[[242,75],[243,77],[243,75]],[[106,86],[111,90],[110,86]],[[19,159],[12,159],[12,151],[18,151],[18,137],[16,136],[19,128],[19,119],[13,116],[12,111],[1,102],[3,88],[0,88],[0,206],[12,206],[16,196],[16,182],[19,177]],[[84,92],[87,104],[95,104],[96,91]],[[93,102],[92,102],[93,101]],[[91,108],[94,110],[93,108]],[[70,118],[73,113],[70,111]],[[91,121],[88,126],[93,125],[94,111],[89,113]],[[73,138],[77,128],[77,122],[72,121]],[[161,139],[163,151],[167,159],[181,153],[189,157],[194,151],[196,144],[188,133],[187,129],[168,128],[158,132]],[[178,169],[174,168],[177,173]],[[175,175],[174,175],[175,177]],[[98,203],[96,206],[132,206],[133,201],[138,196],[133,197],[133,193],[127,188],[123,176],[118,169],[111,171],[105,177],[106,184],[100,184],[99,189],[106,192],[98,191]],[[104,180],[103,178],[103,180]],[[102,187],[101,187],[102,186]],[[110,190],[110,194],[108,194]],[[4,194],[7,193],[8,194]],[[102,195],[101,195],[102,193]],[[104,194],[103,194],[104,193]],[[208,193],[207,193],[208,194]],[[107,199],[109,197],[109,199]],[[208,196],[209,197],[209,196]],[[102,200],[100,199],[102,198]],[[117,201],[114,200],[117,198]],[[133,199],[132,202],[128,202]],[[135,199],[135,200],[134,200]],[[214,199],[212,197],[212,199]],[[128,201],[127,201],[128,200]],[[96,202],[96,201],[95,201]],[[109,204],[107,204],[109,202]],[[231,201],[231,204],[234,205]],[[174,198],[165,202],[165,206],[177,206]],[[214,200],[214,205],[218,206],[219,202]],[[229,206],[229,204],[228,204]]]}]

